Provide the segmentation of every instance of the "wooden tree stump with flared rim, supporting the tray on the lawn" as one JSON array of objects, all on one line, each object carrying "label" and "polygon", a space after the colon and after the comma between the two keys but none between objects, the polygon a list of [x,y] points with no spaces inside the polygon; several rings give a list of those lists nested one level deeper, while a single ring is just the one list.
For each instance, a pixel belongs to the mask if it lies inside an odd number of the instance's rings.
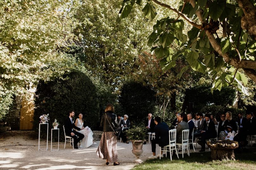
[{"label": "wooden tree stump with flared rim, supporting the tray on the lawn", "polygon": [[234,149],[235,147],[211,147],[211,158],[213,160],[220,160],[220,161],[229,161],[234,160],[235,161],[235,153]]}]

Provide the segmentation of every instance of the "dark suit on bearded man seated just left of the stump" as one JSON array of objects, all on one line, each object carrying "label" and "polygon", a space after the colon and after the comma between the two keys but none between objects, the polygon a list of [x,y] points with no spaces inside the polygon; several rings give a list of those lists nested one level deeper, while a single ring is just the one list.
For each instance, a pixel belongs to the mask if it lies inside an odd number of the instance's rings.
[{"label": "dark suit on bearded man seated just left of the stump", "polygon": [[206,122],[205,132],[203,132],[202,136],[201,136],[202,150],[205,150],[205,140],[206,139],[211,139],[211,138],[216,138],[216,137],[217,137],[217,132],[216,132],[215,124],[212,120],[210,120],[209,123]]}]

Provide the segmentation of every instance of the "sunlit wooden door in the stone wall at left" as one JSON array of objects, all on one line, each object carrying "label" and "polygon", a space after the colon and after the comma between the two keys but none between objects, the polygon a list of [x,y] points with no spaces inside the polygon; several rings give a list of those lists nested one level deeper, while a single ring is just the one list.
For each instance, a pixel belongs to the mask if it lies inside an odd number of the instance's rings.
[{"label": "sunlit wooden door in the stone wall at left", "polygon": [[20,117],[20,130],[32,130],[34,116],[34,101],[33,97],[26,99],[23,97],[21,102],[21,117]]}]

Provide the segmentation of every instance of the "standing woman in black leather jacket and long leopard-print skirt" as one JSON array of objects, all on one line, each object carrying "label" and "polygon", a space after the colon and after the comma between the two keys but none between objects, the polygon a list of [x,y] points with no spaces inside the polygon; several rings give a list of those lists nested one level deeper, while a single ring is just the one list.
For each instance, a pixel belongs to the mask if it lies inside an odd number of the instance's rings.
[{"label": "standing woman in black leather jacket and long leopard-print skirt", "polygon": [[109,162],[114,162],[114,165],[120,165],[120,163],[117,162],[117,140],[115,132],[113,131],[118,125],[117,116],[114,112],[114,106],[107,104],[105,113],[101,116],[103,133],[96,152],[99,158],[106,159],[106,165],[108,165]]}]

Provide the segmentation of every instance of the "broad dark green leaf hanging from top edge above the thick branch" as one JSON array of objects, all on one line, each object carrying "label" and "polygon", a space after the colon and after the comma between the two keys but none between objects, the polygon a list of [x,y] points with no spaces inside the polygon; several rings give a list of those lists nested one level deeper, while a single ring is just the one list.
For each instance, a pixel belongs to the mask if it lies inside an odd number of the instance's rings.
[{"label": "broad dark green leaf hanging from top edge above the thick branch", "polygon": [[225,8],[225,0],[214,1],[210,3],[208,14],[213,20],[217,21],[218,18],[221,16],[224,8]]}]

